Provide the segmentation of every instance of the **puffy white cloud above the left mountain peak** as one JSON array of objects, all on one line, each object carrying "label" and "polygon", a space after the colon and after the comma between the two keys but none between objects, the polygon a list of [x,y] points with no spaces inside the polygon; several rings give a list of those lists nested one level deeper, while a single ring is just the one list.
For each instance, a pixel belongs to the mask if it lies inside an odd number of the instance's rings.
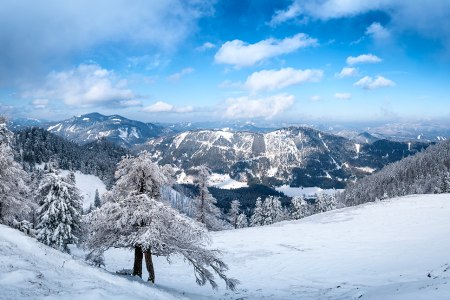
[{"label": "puffy white cloud above the left mountain peak", "polygon": [[[118,105],[135,100],[126,80],[96,64],[81,64],[76,68],[51,72],[42,88],[27,91],[25,98],[60,100],[70,106],[90,107]],[[126,103],[126,102],[125,102]]]}]

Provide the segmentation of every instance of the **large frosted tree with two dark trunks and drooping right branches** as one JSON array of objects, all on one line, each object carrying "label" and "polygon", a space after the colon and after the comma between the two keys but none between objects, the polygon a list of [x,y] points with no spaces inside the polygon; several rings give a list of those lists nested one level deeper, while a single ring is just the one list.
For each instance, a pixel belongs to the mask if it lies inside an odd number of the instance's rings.
[{"label": "large frosted tree with two dark trunks and drooping right branches", "polygon": [[[142,152],[138,157],[125,157],[116,172],[117,181],[111,192],[105,193],[103,205],[87,217],[91,234],[87,246],[99,252],[111,247],[134,249],[133,275],[142,277],[145,257],[149,281],[155,281],[152,254],[182,255],[194,267],[196,282],[209,282],[217,287],[214,274],[234,289],[237,280],[228,278],[227,265],[218,251],[207,249],[209,236],[204,226],[181,215],[161,199],[165,177],[151,156]],[[106,200],[106,201],[105,201]],[[212,271],[211,271],[212,270]]]}]

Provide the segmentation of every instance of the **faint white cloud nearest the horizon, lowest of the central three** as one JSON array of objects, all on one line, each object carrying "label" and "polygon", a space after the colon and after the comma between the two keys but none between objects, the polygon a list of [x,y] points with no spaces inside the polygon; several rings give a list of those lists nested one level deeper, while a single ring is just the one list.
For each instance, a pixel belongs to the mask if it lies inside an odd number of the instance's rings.
[{"label": "faint white cloud nearest the horizon, lowest of the central three", "polygon": [[231,119],[266,118],[271,119],[294,104],[295,97],[279,94],[267,98],[228,98],[224,116]]}]

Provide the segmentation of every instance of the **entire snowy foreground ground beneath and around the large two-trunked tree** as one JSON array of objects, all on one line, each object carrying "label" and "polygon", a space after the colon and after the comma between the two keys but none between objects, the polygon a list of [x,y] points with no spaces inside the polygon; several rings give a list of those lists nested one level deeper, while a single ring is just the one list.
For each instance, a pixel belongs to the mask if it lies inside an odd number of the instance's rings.
[{"label": "entire snowy foreground ground beneath and around the large two-trunked tree", "polygon": [[[181,259],[169,265],[156,258],[156,284],[148,287],[0,226],[0,299],[450,299],[449,237],[449,194],[217,232],[212,246],[225,252],[229,275],[241,281],[230,292],[197,286]],[[110,250],[107,269],[131,268],[132,258],[130,251]]]}]

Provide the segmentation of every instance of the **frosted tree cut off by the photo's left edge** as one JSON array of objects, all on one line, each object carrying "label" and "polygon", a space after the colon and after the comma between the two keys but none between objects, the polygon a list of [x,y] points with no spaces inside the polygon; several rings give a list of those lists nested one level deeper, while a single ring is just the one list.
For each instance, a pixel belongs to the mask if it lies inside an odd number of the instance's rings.
[{"label": "frosted tree cut off by the photo's left edge", "polygon": [[0,223],[7,225],[29,218],[32,205],[28,200],[27,174],[14,161],[12,139],[5,119],[0,117]]}]

